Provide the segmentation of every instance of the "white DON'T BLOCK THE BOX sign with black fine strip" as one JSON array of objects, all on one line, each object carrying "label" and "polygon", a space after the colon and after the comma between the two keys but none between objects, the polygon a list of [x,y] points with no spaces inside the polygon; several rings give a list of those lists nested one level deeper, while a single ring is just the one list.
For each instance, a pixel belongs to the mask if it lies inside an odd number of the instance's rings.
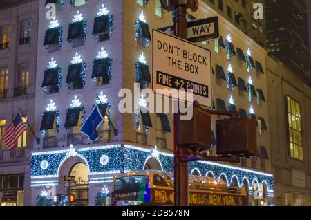
[{"label": "white DON'T BLOCK THE BOX sign with black fine strip", "polygon": [[184,89],[184,101],[192,89],[194,100],[211,107],[211,51],[153,30],[153,92],[157,89]]}]

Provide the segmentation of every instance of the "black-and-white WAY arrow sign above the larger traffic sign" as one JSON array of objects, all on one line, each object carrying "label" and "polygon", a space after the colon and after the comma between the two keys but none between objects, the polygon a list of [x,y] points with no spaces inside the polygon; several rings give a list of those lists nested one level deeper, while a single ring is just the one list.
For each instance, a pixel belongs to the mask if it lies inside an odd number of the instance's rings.
[{"label": "black-and-white WAY arrow sign above the larger traffic sign", "polygon": [[[159,28],[159,30],[173,35],[173,26]],[[187,23],[189,42],[204,42],[219,37],[218,17],[209,17]]]}]

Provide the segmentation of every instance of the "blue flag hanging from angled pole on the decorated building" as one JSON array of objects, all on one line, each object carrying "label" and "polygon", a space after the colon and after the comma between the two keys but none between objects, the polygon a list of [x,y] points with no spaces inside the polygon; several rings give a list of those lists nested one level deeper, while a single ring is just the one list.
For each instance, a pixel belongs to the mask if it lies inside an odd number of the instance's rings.
[{"label": "blue flag hanging from angled pole on the decorated building", "polygon": [[102,118],[100,109],[98,109],[97,104],[95,104],[95,107],[91,115],[88,116],[88,119],[86,119],[86,122],[81,127],[80,131],[86,136],[88,136],[89,140],[96,141],[99,138],[97,129],[98,127],[100,127],[100,124],[102,124],[103,121],[104,121],[104,118]]}]

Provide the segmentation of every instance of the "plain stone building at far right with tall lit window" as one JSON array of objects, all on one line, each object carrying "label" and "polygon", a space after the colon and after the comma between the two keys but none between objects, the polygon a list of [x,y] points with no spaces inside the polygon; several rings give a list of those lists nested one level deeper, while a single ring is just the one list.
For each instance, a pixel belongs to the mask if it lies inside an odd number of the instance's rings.
[{"label": "plain stone building at far right with tall lit window", "polygon": [[310,205],[310,87],[267,57],[272,171],[276,205]]}]

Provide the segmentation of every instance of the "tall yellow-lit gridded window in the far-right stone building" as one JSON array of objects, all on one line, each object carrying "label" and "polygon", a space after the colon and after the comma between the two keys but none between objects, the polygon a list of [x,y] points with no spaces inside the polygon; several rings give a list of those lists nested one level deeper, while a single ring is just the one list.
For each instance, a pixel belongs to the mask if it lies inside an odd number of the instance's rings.
[{"label": "tall yellow-lit gridded window in the far-right stone building", "polygon": [[301,129],[301,106],[289,96],[286,97],[288,112],[288,144],[290,157],[303,161],[303,143]]}]

